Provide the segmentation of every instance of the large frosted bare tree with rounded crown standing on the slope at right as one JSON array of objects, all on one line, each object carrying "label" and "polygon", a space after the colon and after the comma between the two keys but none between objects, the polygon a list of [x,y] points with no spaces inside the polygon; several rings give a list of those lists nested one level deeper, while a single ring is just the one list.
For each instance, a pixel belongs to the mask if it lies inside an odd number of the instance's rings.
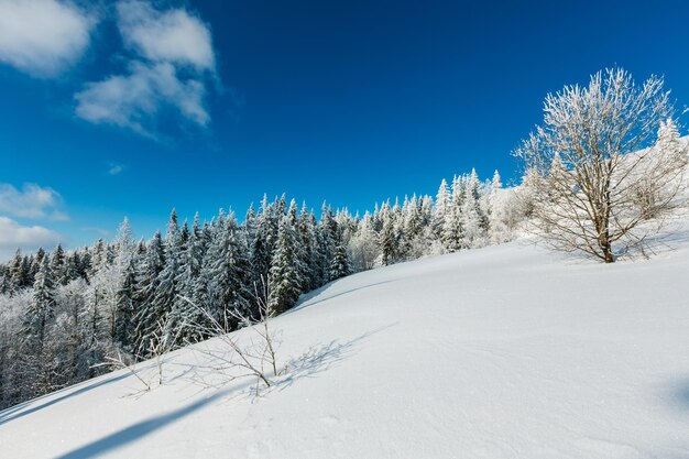
[{"label": "large frosted bare tree with rounded crown standing on the slope at right", "polygon": [[546,97],[543,124],[514,154],[531,188],[528,229],[547,245],[612,263],[687,204],[686,143],[663,86],[613,68]]}]

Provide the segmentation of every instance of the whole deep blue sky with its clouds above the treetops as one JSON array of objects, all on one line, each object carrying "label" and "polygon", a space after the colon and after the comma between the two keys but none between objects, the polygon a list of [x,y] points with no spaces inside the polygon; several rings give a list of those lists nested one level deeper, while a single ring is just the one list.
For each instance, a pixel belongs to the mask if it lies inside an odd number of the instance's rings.
[{"label": "whole deep blue sky with its clouds above the treetops", "polygon": [[550,3],[0,0],[0,259],[508,182],[546,94],[613,65],[689,102],[685,2]]}]

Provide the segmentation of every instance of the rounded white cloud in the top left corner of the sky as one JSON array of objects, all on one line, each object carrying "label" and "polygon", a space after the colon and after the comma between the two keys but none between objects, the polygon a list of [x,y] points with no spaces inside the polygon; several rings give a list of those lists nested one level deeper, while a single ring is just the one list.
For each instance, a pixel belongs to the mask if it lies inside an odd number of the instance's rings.
[{"label": "rounded white cloud in the top left corner of the sky", "polygon": [[0,0],[0,61],[53,77],[83,55],[96,21],[66,1]]}]

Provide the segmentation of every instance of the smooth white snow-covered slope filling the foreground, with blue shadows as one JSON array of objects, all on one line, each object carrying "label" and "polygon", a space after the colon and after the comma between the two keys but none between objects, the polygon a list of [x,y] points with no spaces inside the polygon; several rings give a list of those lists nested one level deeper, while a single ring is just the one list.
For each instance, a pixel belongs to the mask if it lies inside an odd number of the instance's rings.
[{"label": "smooth white snow-covered slope filling the foreground, with blue shadows", "polygon": [[121,371],[1,412],[0,457],[689,458],[688,274],[523,243],[357,274],[274,320],[310,357],[262,396],[187,348],[141,396]]}]

